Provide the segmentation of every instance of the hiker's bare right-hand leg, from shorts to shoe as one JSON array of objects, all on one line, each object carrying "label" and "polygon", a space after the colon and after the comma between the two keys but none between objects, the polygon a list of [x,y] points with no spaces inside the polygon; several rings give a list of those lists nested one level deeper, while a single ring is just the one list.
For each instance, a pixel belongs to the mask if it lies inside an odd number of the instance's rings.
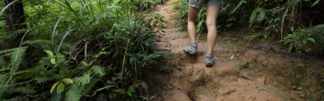
[{"label": "hiker's bare right-hand leg, from shorts to shoe", "polygon": [[[212,53],[213,49],[215,47],[215,42],[216,42],[216,38],[217,38],[216,20],[217,20],[218,12],[219,12],[218,6],[208,6],[207,7],[208,53]],[[188,23],[188,28],[189,28],[189,23]],[[188,29],[188,31],[189,31],[189,29]]]}]

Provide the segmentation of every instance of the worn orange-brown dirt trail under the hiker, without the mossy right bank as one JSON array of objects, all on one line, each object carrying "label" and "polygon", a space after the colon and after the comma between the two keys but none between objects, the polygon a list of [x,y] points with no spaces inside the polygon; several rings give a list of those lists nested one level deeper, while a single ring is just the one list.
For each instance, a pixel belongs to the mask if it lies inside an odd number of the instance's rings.
[{"label": "worn orange-brown dirt trail under the hiker, without the mossy right bank", "polygon": [[[158,33],[159,48],[170,50],[170,56],[176,56],[169,61],[169,73],[157,74],[157,81],[163,83],[159,90],[158,100],[302,100],[291,90],[285,89],[282,82],[277,82],[274,76],[264,72],[255,73],[253,64],[245,62],[261,61],[261,67],[285,64],[284,59],[269,59],[260,56],[260,51],[240,47],[237,44],[219,37],[214,48],[216,53],[214,67],[206,67],[204,54],[207,51],[206,39],[198,40],[198,54],[191,56],[182,49],[189,44],[186,31],[180,31],[176,24],[178,11],[172,7],[172,1],[157,5],[152,12],[165,16],[170,21],[165,33]],[[201,36],[204,37],[204,36]],[[205,36],[206,37],[206,36]],[[229,58],[234,55],[234,59]],[[262,71],[262,70],[261,70]],[[280,79],[280,78],[279,78]]]}]

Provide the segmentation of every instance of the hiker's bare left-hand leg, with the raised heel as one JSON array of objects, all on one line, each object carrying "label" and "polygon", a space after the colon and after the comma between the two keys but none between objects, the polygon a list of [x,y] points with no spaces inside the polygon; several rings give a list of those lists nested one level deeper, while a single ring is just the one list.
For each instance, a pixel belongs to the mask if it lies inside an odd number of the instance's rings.
[{"label": "hiker's bare left-hand leg, with the raised heel", "polygon": [[196,42],[196,26],[194,23],[196,22],[197,14],[200,9],[189,7],[188,9],[188,33],[191,42]]}]

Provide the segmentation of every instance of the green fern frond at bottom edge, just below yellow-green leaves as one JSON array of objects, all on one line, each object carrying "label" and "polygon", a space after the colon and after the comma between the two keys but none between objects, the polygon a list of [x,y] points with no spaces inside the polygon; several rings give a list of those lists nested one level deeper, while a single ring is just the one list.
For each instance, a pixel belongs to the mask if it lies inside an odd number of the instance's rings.
[{"label": "green fern frond at bottom edge, just below yellow-green leaves", "polygon": [[65,100],[66,101],[74,101],[74,100],[80,100],[81,97],[81,90],[80,87],[78,87],[75,84],[71,84],[67,92],[65,93]]}]

